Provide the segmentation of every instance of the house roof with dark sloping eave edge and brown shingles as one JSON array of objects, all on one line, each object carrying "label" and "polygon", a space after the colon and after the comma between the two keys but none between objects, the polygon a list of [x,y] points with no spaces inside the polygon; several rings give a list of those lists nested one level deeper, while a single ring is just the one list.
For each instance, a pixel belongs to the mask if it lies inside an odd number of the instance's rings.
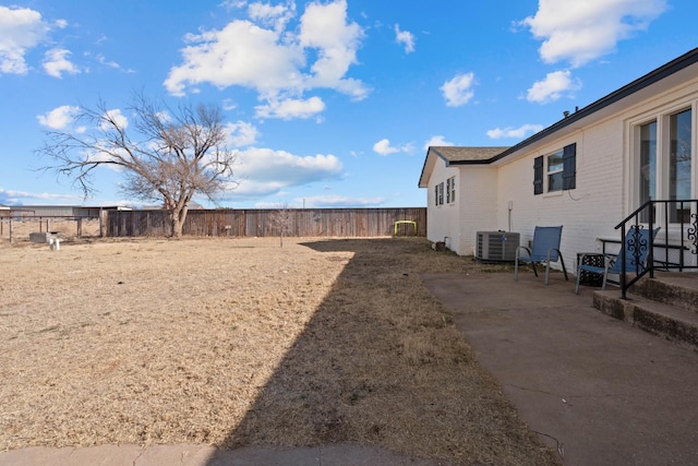
[{"label": "house roof with dark sloping eave edge and brown shingles", "polygon": [[[431,176],[431,171],[434,168],[437,156],[446,160],[447,166],[453,164],[492,164],[503,158],[515,156],[516,154],[520,153],[521,150],[527,147],[530,148],[537,143],[543,142],[549,136],[563,135],[565,131],[576,131],[577,129],[585,127],[592,121],[601,120],[607,115],[617,111],[619,106],[635,105],[638,101],[641,101],[643,98],[648,98],[649,96],[655,95],[657,93],[661,92],[663,89],[663,86],[673,86],[681,83],[683,80],[695,77],[698,73],[698,70],[696,70],[696,68],[698,68],[697,63],[698,48],[695,48],[670,61],[669,63],[653,71],[650,71],[646,75],[633,81],[631,83],[621,87],[619,89],[612,92],[611,94],[600,98],[599,100],[588,105],[587,107],[575,110],[568,116],[565,116],[565,118],[557,121],[556,123],[545,128],[544,130],[531,135],[530,138],[519,142],[512,147],[504,147],[504,150],[502,150],[502,147],[452,147],[449,150],[449,152],[452,153],[458,153],[460,152],[459,150],[461,150],[464,154],[469,153],[469,150],[473,150],[476,153],[482,154],[482,157],[473,156],[472,158],[465,157],[449,160],[448,158],[444,157],[444,155],[440,154],[440,152],[432,151],[441,151],[444,147],[429,147],[426,152],[426,159],[424,160],[424,166],[420,176],[419,187],[428,187],[429,177]],[[484,157],[484,154],[488,153],[488,150],[492,150],[492,155],[489,158]]]}]

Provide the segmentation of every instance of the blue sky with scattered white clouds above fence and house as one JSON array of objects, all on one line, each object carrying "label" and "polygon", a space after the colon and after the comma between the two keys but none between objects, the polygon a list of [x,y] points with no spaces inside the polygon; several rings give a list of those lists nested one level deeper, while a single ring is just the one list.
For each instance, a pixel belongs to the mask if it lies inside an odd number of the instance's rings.
[{"label": "blue sky with scattered white clouds above fence and house", "polygon": [[[83,199],[47,130],[136,92],[217,104],[240,184],[219,206],[424,206],[429,145],[514,145],[698,46],[695,0],[0,2],[0,204]],[[205,200],[197,200],[213,206]]]}]

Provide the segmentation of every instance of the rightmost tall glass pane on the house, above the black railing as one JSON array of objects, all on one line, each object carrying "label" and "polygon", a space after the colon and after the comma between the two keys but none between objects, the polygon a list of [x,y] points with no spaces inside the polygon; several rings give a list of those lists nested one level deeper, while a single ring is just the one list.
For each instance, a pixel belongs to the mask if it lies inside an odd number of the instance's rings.
[{"label": "rightmost tall glass pane on the house, above the black railing", "polygon": [[[691,111],[686,110],[670,118],[671,153],[669,199],[690,199]],[[687,222],[690,213],[681,204],[671,206],[671,222]]]}]

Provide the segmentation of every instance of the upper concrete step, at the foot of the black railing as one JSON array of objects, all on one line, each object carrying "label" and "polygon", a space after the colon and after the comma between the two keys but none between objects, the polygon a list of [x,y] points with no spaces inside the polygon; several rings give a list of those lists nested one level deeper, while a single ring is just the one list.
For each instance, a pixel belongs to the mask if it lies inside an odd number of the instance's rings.
[{"label": "upper concrete step, at the foot of the black railing", "polygon": [[698,273],[657,273],[654,278],[639,280],[630,291],[698,313]]}]

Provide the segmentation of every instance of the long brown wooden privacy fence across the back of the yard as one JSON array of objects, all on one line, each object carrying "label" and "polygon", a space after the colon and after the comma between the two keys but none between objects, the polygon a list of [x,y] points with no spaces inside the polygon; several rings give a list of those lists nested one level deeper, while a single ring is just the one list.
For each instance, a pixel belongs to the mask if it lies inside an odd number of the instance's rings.
[{"label": "long brown wooden privacy fence across the back of the yard", "polygon": [[[105,211],[109,237],[168,236],[166,211]],[[410,220],[399,223],[398,220]],[[417,223],[417,228],[414,224]],[[426,236],[426,207],[189,211],[182,230],[191,236],[374,237]]]}]

